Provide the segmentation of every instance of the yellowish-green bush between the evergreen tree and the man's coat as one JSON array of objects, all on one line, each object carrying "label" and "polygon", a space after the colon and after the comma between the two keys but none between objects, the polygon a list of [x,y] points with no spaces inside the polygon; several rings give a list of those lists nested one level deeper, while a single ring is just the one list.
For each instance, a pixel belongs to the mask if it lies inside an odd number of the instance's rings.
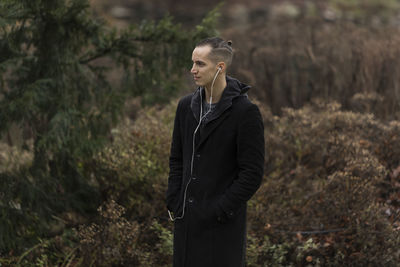
[{"label": "yellowish-green bush between the evergreen tree and the man's coat", "polygon": [[139,111],[112,131],[113,142],[84,163],[102,195],[113,197],[129,218],[162,216],[172,129],[173,105]]}]

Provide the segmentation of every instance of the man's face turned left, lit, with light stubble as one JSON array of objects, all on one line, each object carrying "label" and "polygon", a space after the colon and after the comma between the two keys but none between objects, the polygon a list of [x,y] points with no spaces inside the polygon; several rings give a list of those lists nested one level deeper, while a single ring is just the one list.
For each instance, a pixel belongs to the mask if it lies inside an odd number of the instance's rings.
[{"label": "man's face turned left, lit, with light stubble", "polygon": [[196,47],[192,53],[193,66],[190,72],[198,86],[209,88],[217,71],[217,64],[209,59],[211,46]]}]

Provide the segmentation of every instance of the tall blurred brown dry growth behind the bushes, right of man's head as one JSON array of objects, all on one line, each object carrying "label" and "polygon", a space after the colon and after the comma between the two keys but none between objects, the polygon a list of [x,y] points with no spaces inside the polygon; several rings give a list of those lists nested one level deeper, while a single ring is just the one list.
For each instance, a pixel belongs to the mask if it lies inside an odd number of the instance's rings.
[{"label": "tall blurred brown dry growth behind the bushes, right of man's head", "polygon": [[238,40],[233,72],[258,88],[258,98],[274,114],[315,97],[334,99],[351,110],[359,108],[352,97],[362,94],[372,96],[363,111],[400,118],[397,26],[276,19],[225,35]]}]

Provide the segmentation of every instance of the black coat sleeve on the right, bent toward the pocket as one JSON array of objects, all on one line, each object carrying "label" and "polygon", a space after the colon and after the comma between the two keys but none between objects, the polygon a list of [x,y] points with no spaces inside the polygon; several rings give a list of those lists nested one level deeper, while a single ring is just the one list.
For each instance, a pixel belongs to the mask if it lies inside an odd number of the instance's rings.
[{"label": "black coat sleeve on the right, bent toward the pocket", "polygon": [[237,134],[237,179],[218,201],[217,214],[223,212],[226,219],[233,217],[260,187],[264,173],[265,140],[264,125],[258,107],[251,104],[239,120]]}]

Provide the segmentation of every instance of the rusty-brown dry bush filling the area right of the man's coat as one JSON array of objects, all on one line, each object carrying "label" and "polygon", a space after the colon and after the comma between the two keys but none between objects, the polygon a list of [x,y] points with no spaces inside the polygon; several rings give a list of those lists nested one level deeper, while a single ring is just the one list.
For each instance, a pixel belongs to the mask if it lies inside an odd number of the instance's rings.
[{"label": "rusty-brown dry bush filling the area right of the man's coat", "polygon": [[[266,173],[249,214],[250,234],[262,247],[257,264],[396,266],[400,233],[387,215],[396,208],[381,196],[393,190],[383,185],[399,162],[382,151],[391,147],[398,159],[391,138],[398,123],[320,100],[264,118]],[[304,249],[307,242],[312,249]],[[268,252],[277,245],[279,261]]]}]

